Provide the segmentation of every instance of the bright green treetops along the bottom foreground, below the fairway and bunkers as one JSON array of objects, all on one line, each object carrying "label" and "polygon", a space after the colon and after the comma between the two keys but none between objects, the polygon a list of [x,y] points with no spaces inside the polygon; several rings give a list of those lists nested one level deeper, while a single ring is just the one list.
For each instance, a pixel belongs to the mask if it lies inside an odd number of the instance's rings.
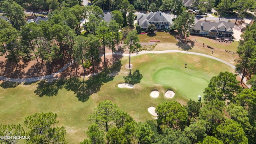
[{"label": "bright green treetops along the bottom foreground, below the fairway and bunkers", "polygon": [[[205,88],[204,102],[189,100],[185,106],[161,102],[157,119],[146,122],[136,122],[109,100],[101,101],[87,118],[93,124],[80,144],[254,144],[254,86],[242,89],[234,74],[220,72]],[[26,142],[34,144],[66,143],[65,127],[56,126],[56,117],[51,112],[36,113],[25,118],[27,132],[20,124],[0,125],[0,135],[30,136]]]}]

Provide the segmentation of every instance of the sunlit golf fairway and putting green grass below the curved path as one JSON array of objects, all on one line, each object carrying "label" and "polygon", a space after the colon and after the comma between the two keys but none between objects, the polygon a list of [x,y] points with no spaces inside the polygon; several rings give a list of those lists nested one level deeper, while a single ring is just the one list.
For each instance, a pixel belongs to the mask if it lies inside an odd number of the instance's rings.
[{"label": "sunlit golf fairway and putting green grass below the curved path", "polygon": [[[189,99],[198,100],[198,95],[203,95],[202,92],[212,76],[221,71],[232,71],[226,64],[202,56],[180,53],[144,54],[131,58],[132,72],[138,69],[143,76],[140,84],[132,89],[118,88],[117,85],[124,82],[123,76],[129,72],[125,68],[128,60],[128,57],[122,58],[121,69],[114,78],[109,79],[101,74],[90,78],[91,83],[87,84],[92,84],[92,88],[97,87],[98,91],[90,95],[85,102],[78,101],[81,98],[74,89],[80,89],[76,88],[77,82],[69,78],[50,84],[18,84],[13,86],[14,88],[2,88],[2,83],[0,122],[24,126],[26,116],[51,111],[58,114],[58,125],[66,127],[67,142],[77,144],[86,138],[84,131],[91,124],[87,121],[87,116],[94,112],[94,107],[99,101],[111,100],[136,121],[145,121],[152,118],[147,111],[148,107],[156,107],[166,100],[175,100],[181,104],[186,104]],[[184,63],[187,63],[187,68],[184,68]],[[99,85],[98,81],[103,82],[102,85]],[[158,98],[150,97],[150,92],[155,89],[160,92]],[[168,89],[176,93],[174,98],[165,98],[164,93]],[[21,143],[23,142],[18,142]]]}]

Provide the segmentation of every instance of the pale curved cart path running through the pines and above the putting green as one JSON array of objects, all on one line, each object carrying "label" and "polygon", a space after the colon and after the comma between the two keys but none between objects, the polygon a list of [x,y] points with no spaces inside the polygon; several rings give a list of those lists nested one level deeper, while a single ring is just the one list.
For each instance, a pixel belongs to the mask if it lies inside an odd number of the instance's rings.
[{"label": "pale curved cart path running through the pines and above the putting green", "polygon": [[[201,53],[197,53],[197,52],[185,52],[185,51],[181,51],[181,50],[163,50],[163,51],[142,51],[142,52],[138,52],[137,54],[131,54],[131,56],[137,56],[140,54],[163,54],[163,53],[171,53],[171,52],[180,52],[180,53],[184,53],[184,54],[194,54],[194,55],[198,55],[198,56],[205,56],[208,58],[212,58],[214,60],[218,60],[224,64],[227,64],[228,66],[231,66],[232,68],[235,69],[235,66],[224,61],[221,60],[219,58],[216,58],[214,56],[209,56],[207,54],[201,54]],[[129,54],[123,54],[120,52],[115,52],[114,54],[116,55],[122,55],[122,56],[129,56]],[[108,55],[112,55],[112,53],[106,53],[106,56]],[[100,56],[103,56],[103,54],[101,54]],[[72,61],[74,62],[74,60]],[[68,64],[66,64],[66,66],[64,66],[62,69],[58,70],[58,72],[55,72],[54,74],[50,74],[47,76],[41,76],[41,77],[37,77],[37,78],[6,78],[4,76],[0,76],[0,80],[4,80],[4,81],[8,81],[8,82],[36,82],[38,80],[45,80],[45,79],[51,79],[54,76],[60,74],[60,72],[63,72],[64,70],[66,70],[66,68],[68,68],[71,65],[71,62],[69,62]],[[89,75],[90,76],[90,75]]]}]

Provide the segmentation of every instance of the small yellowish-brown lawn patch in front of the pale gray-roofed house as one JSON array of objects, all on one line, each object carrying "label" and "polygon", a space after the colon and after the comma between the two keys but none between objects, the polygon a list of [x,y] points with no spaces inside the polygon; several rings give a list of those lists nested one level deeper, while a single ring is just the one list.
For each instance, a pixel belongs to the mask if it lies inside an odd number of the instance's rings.
[{"label": "small yellowish-brown lawn patch in front of the pale gray-roofed house", "polygon": [[153,35],[139,34],[140,42],[149,42],[150,40],[160,40],[160,42],[174,42],[177,43],[174,36],[167,32],[156,32]]}]

